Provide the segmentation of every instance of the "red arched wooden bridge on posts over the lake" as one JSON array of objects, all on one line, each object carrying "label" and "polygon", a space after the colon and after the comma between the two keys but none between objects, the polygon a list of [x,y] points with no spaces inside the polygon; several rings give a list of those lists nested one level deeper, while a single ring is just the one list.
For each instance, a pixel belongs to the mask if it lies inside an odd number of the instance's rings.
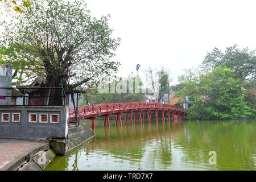
[{"label": "red arched wooden bridge on posts over the lake", "polygon": [[[143,112],[143,118],[141,113]],[[79,106],[78,110],[79,119],[92,119],[92,128],[95,128],[96,117],[105,117],[104,126],[106,122],[108,127],[110,126],[109,117],[111,114],[116,114],[115,125],[117,125],[118,120],[120,126],[122,126],[121,114],[125,113],[125,124],[127,122],[128,115],[130,116],[130,122],[133,124],[132,113],[134,113],[134,123],[136,122],[136,116],[139,115],[139,121],[144,122],[145,115],[148,122],[151,122],[152,113],[155,114],[156,122],[158,122],[158,113],[162,114],[162,121],[164,122],[164,113],[167,113],[167,121],[170,121],[170,113],[172,114],[172,119],[184,118],[185,110],[181,107],[171,106],[167,104],[156,104],[156,103],[145,103],[145,102],[130,102],[130,103],[115,103],[115,104],[97,104],[88,106]],[[69,107],[69,122],[76,121],[76,114],[74,107]]]}]

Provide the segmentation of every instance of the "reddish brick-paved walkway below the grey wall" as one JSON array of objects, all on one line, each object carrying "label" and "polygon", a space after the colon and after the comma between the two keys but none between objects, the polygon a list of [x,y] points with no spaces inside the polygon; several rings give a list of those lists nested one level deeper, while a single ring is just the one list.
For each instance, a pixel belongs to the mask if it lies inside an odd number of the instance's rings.
[{"label": "reddish brick-paved walkway below the grey wall", "polygon": [[30,154],[46,142],[0,139],[0,171],[6,170],[23,156]]}]

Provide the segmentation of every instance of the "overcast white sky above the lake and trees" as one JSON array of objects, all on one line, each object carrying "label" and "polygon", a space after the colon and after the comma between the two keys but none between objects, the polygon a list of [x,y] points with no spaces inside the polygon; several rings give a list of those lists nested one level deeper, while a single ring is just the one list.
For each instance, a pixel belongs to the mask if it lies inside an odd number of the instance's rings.
[{"label": "overcast white sky above the lake and trees", "polygon": [[170,69],[177,83],[183,68],[197,67],[214,47],[236,43],[256,49],[256,1],[229,0],[87,0],[93,16],[110,14],[109,25],[121,45],[114,60],[118,76],[139,74],[151,65]]}]

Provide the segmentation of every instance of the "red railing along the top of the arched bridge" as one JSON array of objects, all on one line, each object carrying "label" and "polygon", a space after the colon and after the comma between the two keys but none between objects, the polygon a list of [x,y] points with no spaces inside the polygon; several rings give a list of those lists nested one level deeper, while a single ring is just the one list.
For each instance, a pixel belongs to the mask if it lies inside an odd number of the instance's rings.
[{"label": "red railing along the top of the arched bridge", "polygon": [[[167,104],[158,104],[158,103],[146,103],[146,102],[126,102],[126,103],[114,103],[114,104],[97,104],[97,105],[86,105],[78,106],[78,115],[90,115],[90,114],[100,114],[111,111],[122,111],[129,109],[172,109],[175,111],[184,111],[181,107],[171,106]],[[75,109],[74,107],[69,107],[69,118],[75,118]]]}]

